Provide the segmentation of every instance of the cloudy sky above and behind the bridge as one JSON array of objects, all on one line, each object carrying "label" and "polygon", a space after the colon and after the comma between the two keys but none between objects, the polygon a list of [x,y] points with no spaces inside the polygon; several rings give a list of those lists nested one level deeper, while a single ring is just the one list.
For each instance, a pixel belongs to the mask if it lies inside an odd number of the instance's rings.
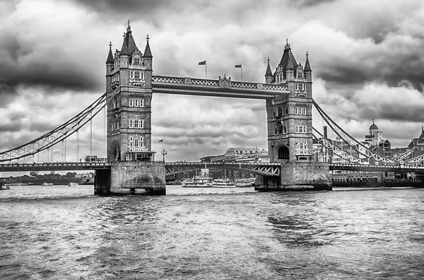
[{"label": "cloudy sky above and behind the bridge", "polygon": [[[314,100],[358,140],[375,123],[392,146],[408,145],[424,124],[424,2],[421,0],[0,2],[0,151],[45,134],[105,92],[108,44],[122,45],[127,20],[153,72],[263,82],[285,39],[298,62],[310,54]],[[236,146],[266,148],[264,100],[153,96],[153,150],[167,161],[197,161]],[[314,127],[322,127],[314,115]],[[102,115],[93,153],[105,151]],[[80,157],[90,152],[83,129]],[[76,139],[66,158],[76,159]],[[54,161],[61,161],[61,146]],[[46,155],[40,156],[40,161]]]}]

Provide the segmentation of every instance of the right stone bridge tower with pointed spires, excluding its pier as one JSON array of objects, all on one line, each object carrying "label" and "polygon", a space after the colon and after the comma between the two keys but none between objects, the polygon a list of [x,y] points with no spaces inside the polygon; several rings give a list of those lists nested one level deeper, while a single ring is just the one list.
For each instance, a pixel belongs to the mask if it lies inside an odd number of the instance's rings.
[{"label": "right stone bridge tower with pointed spires, excluding its pier", "polygon": [[266,100],[268,151],[271,162],[312,159],[312,70],[306,54],[298,64],[286,42],[283,57],[272,73],[266,68],[265,83],[288,86],[290,94]]}]

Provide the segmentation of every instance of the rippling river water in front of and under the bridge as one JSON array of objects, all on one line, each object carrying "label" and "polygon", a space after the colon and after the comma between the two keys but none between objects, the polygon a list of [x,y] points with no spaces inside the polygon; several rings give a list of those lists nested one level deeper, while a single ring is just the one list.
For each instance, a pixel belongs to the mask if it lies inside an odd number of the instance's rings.
[{"label": "rippling river water in front of and under the bridge", "polygon": [[424,189],[0,191],[0,279],[424,279]]}]

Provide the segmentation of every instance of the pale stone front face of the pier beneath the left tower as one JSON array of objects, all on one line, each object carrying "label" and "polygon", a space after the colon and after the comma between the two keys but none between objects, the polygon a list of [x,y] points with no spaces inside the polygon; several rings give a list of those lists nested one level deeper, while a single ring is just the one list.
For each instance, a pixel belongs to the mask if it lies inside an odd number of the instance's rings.
[{"label": "pale stone front face of the pier beneath the left tower", "polygon": [[111,194],[166,194],[164,162],[120,161],[112,163],[111,171]]}]

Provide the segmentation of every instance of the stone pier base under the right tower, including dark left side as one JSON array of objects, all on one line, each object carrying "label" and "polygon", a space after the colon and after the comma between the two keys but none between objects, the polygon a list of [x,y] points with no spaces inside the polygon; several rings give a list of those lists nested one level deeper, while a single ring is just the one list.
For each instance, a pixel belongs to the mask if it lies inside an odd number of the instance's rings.
[{"label": "stone pier base under the right tower, including dark left side", "polygon": [[281,178],[257,176],[255,189],[262,192],[332,190],[328,163],[282,163]]}]

